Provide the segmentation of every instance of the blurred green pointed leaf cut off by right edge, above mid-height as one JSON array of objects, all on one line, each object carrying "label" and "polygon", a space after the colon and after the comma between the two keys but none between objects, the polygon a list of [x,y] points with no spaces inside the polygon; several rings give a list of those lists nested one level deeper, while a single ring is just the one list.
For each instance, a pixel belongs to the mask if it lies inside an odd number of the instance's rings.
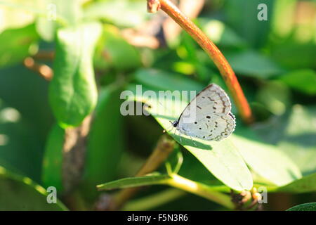
[{"label": "blurred green pointed leaf cut off by right edge, above mid-height", "polygon": [[316,72],[314,70],[294,70],[278,77],[278,79],[296,91],[316,95]]}]

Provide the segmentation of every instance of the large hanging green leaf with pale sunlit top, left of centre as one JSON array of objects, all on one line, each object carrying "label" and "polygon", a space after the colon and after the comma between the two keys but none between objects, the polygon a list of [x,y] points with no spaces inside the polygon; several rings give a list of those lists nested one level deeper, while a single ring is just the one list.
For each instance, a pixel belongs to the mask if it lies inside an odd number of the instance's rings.
[{"label": "large hanging green leaf with pale sunlit top, left of centre", "polygon": [[49,97],[62,127],[78,126],[96,106],[98,93],[92,57],[101,30],[98,23],[58,30]]}]

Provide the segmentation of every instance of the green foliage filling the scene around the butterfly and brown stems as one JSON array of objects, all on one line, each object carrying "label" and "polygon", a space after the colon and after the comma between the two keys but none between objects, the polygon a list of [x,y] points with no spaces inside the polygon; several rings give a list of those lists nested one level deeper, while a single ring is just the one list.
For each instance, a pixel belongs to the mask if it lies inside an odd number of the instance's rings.
[{"label": "green foliage filling the scene around the butterfly and brown stems", "polygon": [[[263,2],[267,21],[257,20]],[[57,7],[55,20],[48,19],[47,6]],[[316,1],[206,1],[194,22],[232,65],[256,123],[244,125],[233,104],[237,128],[225,141],[198,141],[195,147],[171,133],[180,144],[169,162],[175,168],[179,155],[183,158],[180,176],[219,194],[264,186],[267,210],[301,203],[310,205],[289,210],[315,210],[315,8]],[[166,40],[159,49],[131,45],[123,31],[146,30],[146,21],[157,16],[146,12],[142,0],[6,0],[0,1],[0,11],[0,210],[66,210],[65,196],[76,200],[75,207],[67,205],[71,210],[91,210],[100,195],[98,184],[162,184],[136,195],[128,210],[227,210],[171,189],[164,182],[169,179],[164,166],[159,174],[123,179],[136,174],[181,108],[154,117],[124,117],[121,91],[135,91],[137,84],[143,91],[200,91],[209,83],[228,91],[188,34]],[[53,68],[50,83],[23,65],[41,51],[55,52],[53,61],[41,62]],[[140,96],[136,101],[150,103]],[[154,113],[159,105],[152,106],[148,110]],[[67,193],[62,180],[65,130],[91,113],[84,169]],[[45,202],[48,186],[58,190],[57,205]]]}]

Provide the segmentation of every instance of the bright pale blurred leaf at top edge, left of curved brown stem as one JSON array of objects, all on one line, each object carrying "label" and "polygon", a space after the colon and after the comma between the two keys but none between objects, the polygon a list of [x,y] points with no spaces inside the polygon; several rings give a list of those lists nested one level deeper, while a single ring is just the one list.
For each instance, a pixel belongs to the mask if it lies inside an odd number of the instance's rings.
[{"label": "bright pale blurred leaf at top edge, left of curved brown stem", "polygon": [[95,1],[84,11],[84,18],[105,20],[122,27],[135,27],[148,18],[146,4],[143,1]]}]

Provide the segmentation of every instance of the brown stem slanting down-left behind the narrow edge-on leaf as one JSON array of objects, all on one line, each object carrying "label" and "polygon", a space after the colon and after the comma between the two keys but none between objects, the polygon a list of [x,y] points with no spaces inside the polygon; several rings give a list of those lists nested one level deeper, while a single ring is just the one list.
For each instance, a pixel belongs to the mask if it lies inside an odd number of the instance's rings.
[{"label": "brown stem slanting down-left behind the narrow edge-on leaf", "polygon": [[[147,159],[143,167],[140,168],[136,176],[143,176],[145,174],[149,174],[150,172],[154,172],[160,165],[162,165],[162,162],[168,158],[173,148],[174,141],[171,141],[169,136],[163,135],[159,139],[156,148],[154,148],[152,154]],[[119,210],[127,200],[140,190],[140,188],[126,188],[120,191],[114,197],[110,210]]]}]

